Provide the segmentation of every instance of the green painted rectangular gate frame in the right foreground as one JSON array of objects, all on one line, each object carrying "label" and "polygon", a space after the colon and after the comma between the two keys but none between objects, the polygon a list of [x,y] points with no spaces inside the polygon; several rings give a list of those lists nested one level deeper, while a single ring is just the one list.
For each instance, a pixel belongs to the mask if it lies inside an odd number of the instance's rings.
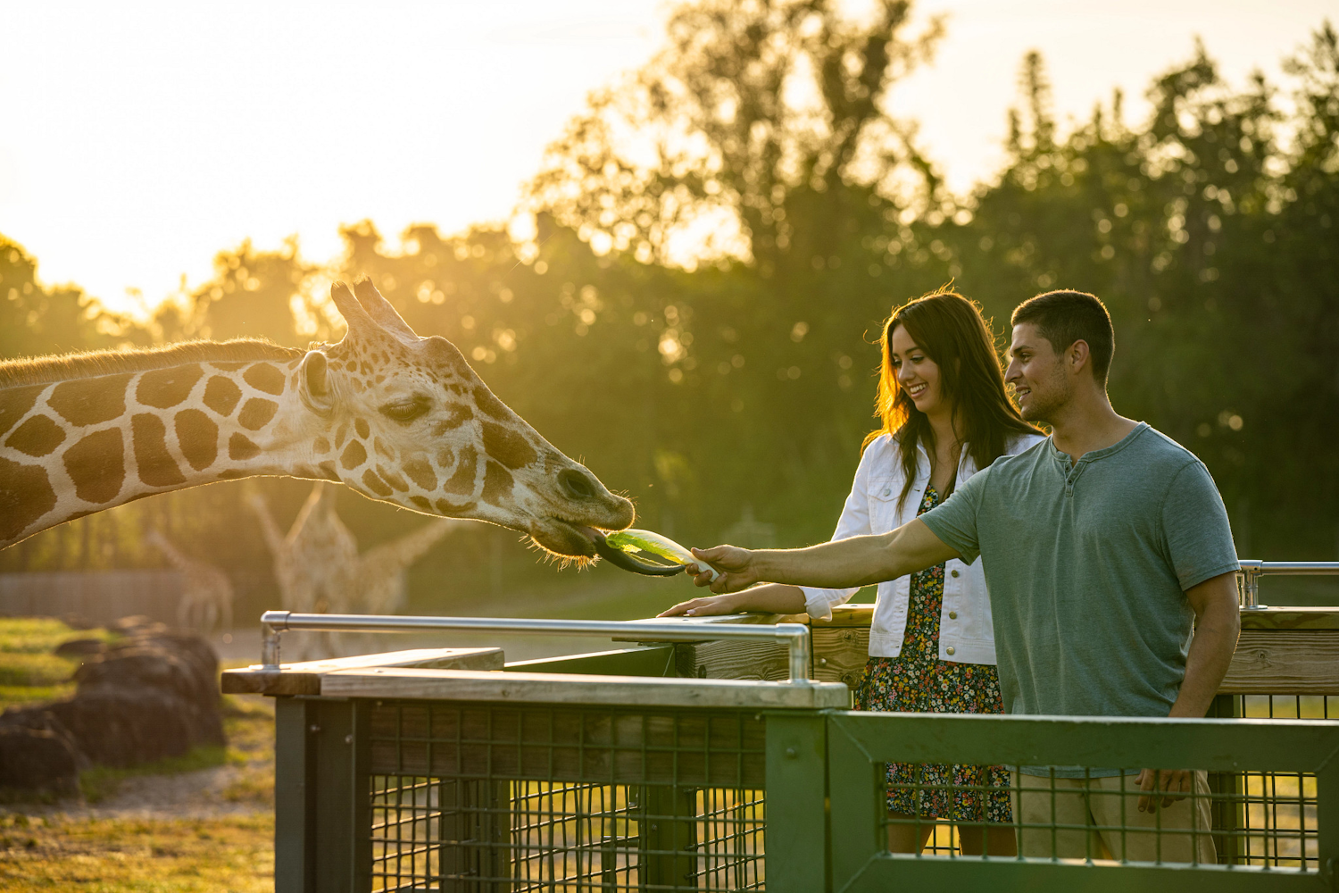
[{"label": "green painted rectangular gate frame in the right foreground", "polygon": [[[1169,889],[1173,884],[1182,893],[1335,889],[1339,722],[834,711],[826,715],[826,730],[833,893],[890,889],[1114,893]],[[1302,873],[1228,865],[1103,866],[1050,860],[894,856],[880,839],[881,767],[890,762],[1315,773],[1320,869]],[[767,818],[770,830],[771,791]],[[767,868],[770,877],[770,858]]]}]

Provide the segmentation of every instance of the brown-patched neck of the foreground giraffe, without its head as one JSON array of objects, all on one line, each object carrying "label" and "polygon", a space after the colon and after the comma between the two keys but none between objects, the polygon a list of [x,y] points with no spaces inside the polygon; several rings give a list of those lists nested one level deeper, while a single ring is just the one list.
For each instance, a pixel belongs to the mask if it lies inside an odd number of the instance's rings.
[{"label": "brown-patched neck of the foreground giraffe, without its head", "polygon": [[137,355],[63,359],[50,382],[42,368],[5,380],[0,367],[0,548],[155,493],[257,474],[337,479],[297,436],[300,353],[187,347],[191,361],[141,355],[147,368]]}]

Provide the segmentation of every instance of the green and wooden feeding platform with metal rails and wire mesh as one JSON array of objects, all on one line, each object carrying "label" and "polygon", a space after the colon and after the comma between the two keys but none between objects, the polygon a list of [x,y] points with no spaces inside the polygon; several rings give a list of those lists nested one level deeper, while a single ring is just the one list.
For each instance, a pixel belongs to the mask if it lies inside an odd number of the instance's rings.
[{"label": "green and wooden feeding platform with metal rails and wire mesh", "polygon": [[[1243,565],[1240,645],[1213,716],[1198,720],[852,711],[868,606],[830,621],[266,612],[262,663],[225,672],[224,689],[276,698],[281,892],[1331,890],[1339,609],[1259,606],[1259,576],[1277,570]],[[616,647],[517,663],[498,648],[439,648],[281,664],[281,637],[299,629],[438,629],[443,643],[453,629],[607,635]],[[1189,830],[1184,857],[1174,829],[1055,817],[977,825],[1030,841],[1023,856],[990,858],[964,851],[953,826],[912,818],[928,826],[925,849],[893,854],[894,762],[1194,768],[1210,818]],[[1022,778],[1043,793],[1058,783]],[[1137,794],[1122,787],[1119,817],[1134,815]],[[1065,834],[1089,842],[1074,851]],[[1135,846],[1139,834],[1154,846]]]}]

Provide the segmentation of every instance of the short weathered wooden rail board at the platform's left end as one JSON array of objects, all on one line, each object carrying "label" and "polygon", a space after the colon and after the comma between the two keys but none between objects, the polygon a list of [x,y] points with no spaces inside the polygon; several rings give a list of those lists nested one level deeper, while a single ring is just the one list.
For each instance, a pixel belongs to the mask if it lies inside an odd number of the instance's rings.
[{"label": "short weathered wooden rail board at the platform's left end", "polygon": [[419,667],[437,669],[502,669],[506,659],[501,648],[415,648],[380,655],[311,660],[280,664],[269,669],[260,664],[245,669],[225,669],[225,695],[320,695],[321,677],[339,669],[363,667]]}]

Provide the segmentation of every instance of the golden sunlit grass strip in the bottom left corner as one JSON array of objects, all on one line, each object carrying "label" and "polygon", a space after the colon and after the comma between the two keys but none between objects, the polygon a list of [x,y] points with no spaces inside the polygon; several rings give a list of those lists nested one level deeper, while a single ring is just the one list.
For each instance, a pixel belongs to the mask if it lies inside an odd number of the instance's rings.
[{"label": "golden sunlit grass strip in the bottom left corner", "polygon": [[210,819],[0,813],[0,889],[268,892],[273,834],[268,813]]}]

